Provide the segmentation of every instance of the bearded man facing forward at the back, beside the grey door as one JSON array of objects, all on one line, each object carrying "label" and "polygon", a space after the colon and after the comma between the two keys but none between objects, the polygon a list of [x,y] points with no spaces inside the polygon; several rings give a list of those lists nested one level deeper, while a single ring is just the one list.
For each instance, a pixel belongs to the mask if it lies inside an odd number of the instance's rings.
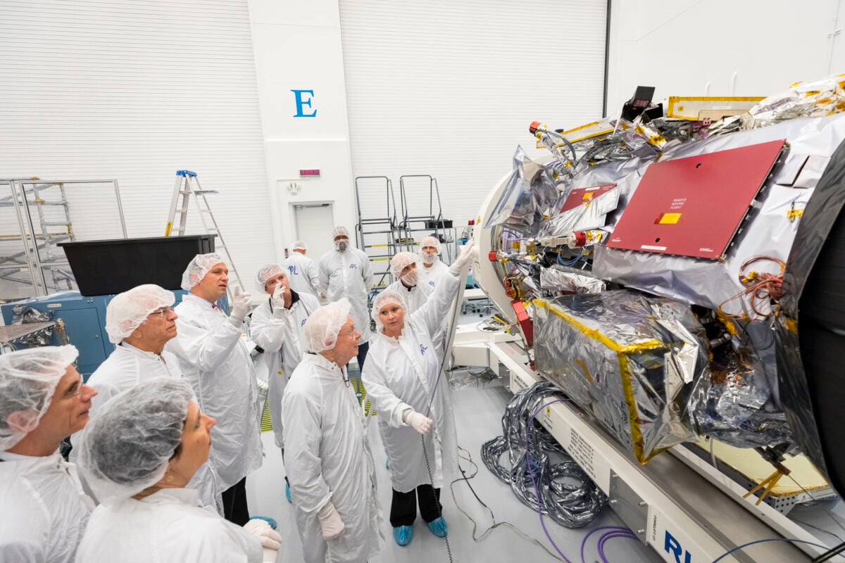
[{"label": "bearded man facing forward at the back, beside the grey door", "polygon": [[319,284],[330,301],[344,297],[352,306],[355,328],[361,333],[358,342],[358,367],[363,368],[369,348],[369,290],[373,285],[373,267],[369,257],[349,246],[349,231],[336,227],[332,233],[335,250],[326,252],[319,260]]}]

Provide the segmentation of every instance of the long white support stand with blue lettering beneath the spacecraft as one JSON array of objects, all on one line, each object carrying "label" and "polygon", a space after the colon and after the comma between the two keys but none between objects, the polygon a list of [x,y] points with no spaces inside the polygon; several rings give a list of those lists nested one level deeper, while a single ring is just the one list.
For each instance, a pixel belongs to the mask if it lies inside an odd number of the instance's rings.
[{"label": "long white support stand with blue lettering beneath the spacecraft", "polygon": [[[505,333],[461,328],[453,354],[456,364],[490,366],[511,392],[541,379],[528,365],[516,338]],[[824,544],[771,506],[755,505],[756,497],[743,499],[746,491],[739,484],[684,447],[674,447],[670,450],[674,455],[659,455],[641,465],[574,404],[549,405],[537,420],[610,497],[613,512],[667,563],[711,563],[728,550],[758,539],[784,537]],[[749,549],[720,563],[796,563],[823,552],[808,544],[781,541]]]}]

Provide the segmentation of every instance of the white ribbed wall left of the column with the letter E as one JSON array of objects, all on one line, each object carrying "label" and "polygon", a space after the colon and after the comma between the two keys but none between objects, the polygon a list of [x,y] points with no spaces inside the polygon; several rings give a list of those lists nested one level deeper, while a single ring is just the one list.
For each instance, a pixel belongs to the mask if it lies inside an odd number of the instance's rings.
[{"label": "white ribbed wall left of the column with the letter E", "polygon": [[[0,21],[0,177],[116,178],[140,237],[197,171],[240,273],[275,254],[245,0],[28,0]],[[71,209],[80,233],[92,211]],[[114,237],[117,214],[94,219]]]}]

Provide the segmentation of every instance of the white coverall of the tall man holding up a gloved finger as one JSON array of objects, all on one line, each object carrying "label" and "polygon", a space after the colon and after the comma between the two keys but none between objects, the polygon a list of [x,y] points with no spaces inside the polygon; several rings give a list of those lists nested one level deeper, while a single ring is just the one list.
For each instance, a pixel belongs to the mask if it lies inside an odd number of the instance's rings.
[{"label": "white coverall of the tall man holding up a gloved finger", "polygon": [[203,481],[216,477],[217,492],[223,492],[261,467],[264,450],[253,360],[241,329],[212,305],[197,295],[185,295],[174,309],[179,316],[177,337],[166,347],[194,387],[199,409],[217,420],[211,429],[211,471],[194,475],[191,487],[205,490]]}]

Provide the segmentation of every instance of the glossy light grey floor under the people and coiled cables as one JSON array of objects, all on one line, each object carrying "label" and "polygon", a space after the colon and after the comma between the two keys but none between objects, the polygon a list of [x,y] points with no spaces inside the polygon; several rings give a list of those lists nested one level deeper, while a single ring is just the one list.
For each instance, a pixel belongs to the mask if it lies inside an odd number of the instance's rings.
[{"label": "glossy light grey floor under the people and coiled cables", "polygon": [[[477,320],[477,317],[476,317]],[[455,374],[457,375],[457,374]],[[465,380],[466,383],[466,380]],[[512,395],[499,382],[478,381],[477,387],[463,387],[453,390],[455,404],[455,424],[458,431],[458,443],[466,449],[477,463],[477,476],[471,479],[477,495],[493,511],[496,522],[510,522],[526,536],[536,539],[542,546],[554,553],[554,548],[545,536],[536,511],[521,504],[499,479],[491,474],[481,461],[482,442],[501,434],[501,416],[504,406]],[[392,528],[387,516],[390,511],[390,474],[384,467],[384,447],[379,437],[376,420],[370,420],[368,427],[370,447],[376,461],[376,473],[379,479],[379,501],[384,511],[384,544],[378,556],[371,563],[389,561],[448,561],[444,539],[435,537],[428,531],[425,523],[417,518],[414,524],[414,537],[411,544],[400,547],[393,540]],[[264,432],[264,466],[247,479],[247,491],[250,513],[254,516],[274,517],[279,525],[279,532],[284,539],[279,561],[292,563],[302,561],[302,549],[293,522],[291,506],[285,499],[285,469],[281,462],[281,451],[275,447],[272,432]],[[463,454],[466,455],[466,454]],[[461,460],[461,468],[467,476],[475,468],[471,463]],[[533,543],[523,539],[507,526],[499,526],[479,541],[472,539],[472,522],[461,514],[458,506],[476,520],[476,537],[487,531],[493,524],[489,512],[479,504],[469,487],[462,479],[454,485],[455,497],[444,487],[441,492],[443,512],[449,524],[449,541],[452,560],[469,563],[511,563],[516,560],[555,560],[552,555]],[[570,530],[544,517],[548,533],[573,563],[581,562],[581,541],[586,533],[599,526],[621,526],[619,517],[605,508],[602,515],[591,528]],[[597,555],[597,539],[601,533],[595,533],[588,540],[585,550],[586,563],[600,561]],[[605,544],[605,555],[609,563],[645,563],[660,561],[660,557],[651,548],[632,539],[611,539]],[[559,560],[562,560],[558,558]]]}]

